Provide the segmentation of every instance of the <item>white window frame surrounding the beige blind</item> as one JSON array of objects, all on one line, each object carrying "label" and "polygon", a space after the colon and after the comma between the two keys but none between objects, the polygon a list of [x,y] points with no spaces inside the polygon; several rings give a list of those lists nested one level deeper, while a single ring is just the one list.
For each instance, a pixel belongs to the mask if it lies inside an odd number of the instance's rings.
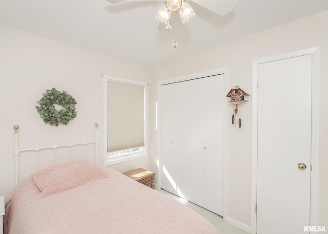
[{"label": "white window frame surrounding the beige blind", "polygon": [[[113,76],[101,75],[104,78],[104,165],[114,165],[121,162],[128,162],[131,160],[144,158],[148,156],[148,134],[147,134],[147,125],[148,125],[148,83],[146,82],[139,82],[130,79],[118,78]],[[141,152],[131,153],[131,154],[124,154],[119,156],[112,156],[109,157],[107,152],[107,82],[114,81],[114,82],[121,82],[132,84],[136,86],[143,86],[145,88],[145,124],[144,124],[144,139],[145,139],[145,146],[142,147]]]}]

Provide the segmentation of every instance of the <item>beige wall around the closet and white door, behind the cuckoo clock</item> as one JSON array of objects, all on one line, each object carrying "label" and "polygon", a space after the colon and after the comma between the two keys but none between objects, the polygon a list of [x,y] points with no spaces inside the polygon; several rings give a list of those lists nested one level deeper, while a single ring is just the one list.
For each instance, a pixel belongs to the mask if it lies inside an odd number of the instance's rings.
[{"label": "beige wall around the closet and white door, behind the cuckoo clock", "polygon": [[[328,226],[328,101],[324,90],[328,89],[328,12],[323,12],[295,22],[242,37],[188,56],[158,63],[152,68],[150,98],[151,119],[154,119],[157,99],[156,81],[194,74],[215,68],[229,68],[229,87],[241,86],[252,94],[252,61],[293,51],[320,47],[321,95],[320,95],[320,171],[319,171],[319,223]],[[182,44],[180,46],[183,46]],[[155,80],[154,80],[155,79]],[[283,84],[282,84],[283,85]],[[227,93],[229,90],[227,90]],[[252,97],[252,96],[251,96]],[[228,109],[228,217],[247,226],[251,225],[251,138],[252,101],[243,103],[242,127],[230,124]],[[228,102],[228,100],[227,100]],[[292,108],[292,104],[291,104]],[[153,116],[153,117],[152,117]],[[291,117],[291,120],[292,121]],[[151,123],[154,125],[154,123]],[[268,123],[270,124],[270,123]],[[155,171],[157,147],[156,131],[152,129],[151,169]]]}]

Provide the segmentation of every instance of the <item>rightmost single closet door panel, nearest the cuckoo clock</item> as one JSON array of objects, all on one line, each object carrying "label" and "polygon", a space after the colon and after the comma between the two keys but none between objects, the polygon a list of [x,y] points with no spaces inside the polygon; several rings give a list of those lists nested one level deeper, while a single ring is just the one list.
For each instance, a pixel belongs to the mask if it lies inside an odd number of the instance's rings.
[{"label": "rightmost single closet door panel, nearest the cuckoo clock", "polygon": [[204,208],[223,214],[224,74],[204,78]]}]

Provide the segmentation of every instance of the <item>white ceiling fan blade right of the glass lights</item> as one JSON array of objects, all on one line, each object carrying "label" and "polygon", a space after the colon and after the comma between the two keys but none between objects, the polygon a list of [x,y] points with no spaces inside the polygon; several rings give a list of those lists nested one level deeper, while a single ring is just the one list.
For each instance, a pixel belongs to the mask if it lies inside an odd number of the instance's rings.
[{"label": "white ceiling fan blade right of the glass lights", "polygon": [[237,0],[191,0],[192,2],[206,8],[218,15],[226,15],[232,11],[236,5]]}]

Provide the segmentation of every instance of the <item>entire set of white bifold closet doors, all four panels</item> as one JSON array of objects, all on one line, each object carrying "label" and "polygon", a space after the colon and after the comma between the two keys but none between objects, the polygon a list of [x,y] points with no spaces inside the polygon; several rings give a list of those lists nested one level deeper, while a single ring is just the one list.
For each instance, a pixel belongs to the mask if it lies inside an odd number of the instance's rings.
[{"label": "entire set of white bifold closet doors, all four panels", "polygon": [[223,214],[224,75],[161,86],[161,188]]}]

